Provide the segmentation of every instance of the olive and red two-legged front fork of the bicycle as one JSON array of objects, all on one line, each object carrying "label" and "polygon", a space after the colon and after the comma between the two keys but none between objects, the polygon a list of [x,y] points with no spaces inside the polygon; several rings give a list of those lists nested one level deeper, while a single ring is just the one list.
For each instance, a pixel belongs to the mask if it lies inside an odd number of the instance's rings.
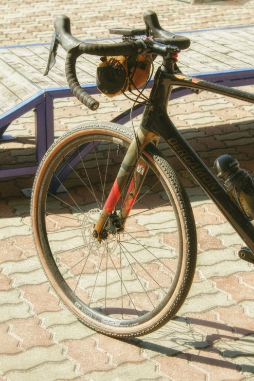
[{"label": "olive and red two-legged front fork of the bicycle", "polygon": [[[144,127],[139,127],[137,131],[137,141],[139,144],[139,153],[141,154],[145,146],[153,141],[158,141],[158,136],[153,132],[148,131]],[[145,179],[145,174],[147,172],[148,166],[145,161],[141,158],[138,160],[137,154],[137,143],[136,139],[133,139],[130,143],[123,163],[121,164],[120,170],[117,174],[117,177],[114,181],[114,184],[109,193],[108,199],[101,211],[100,217],[94,227],[94,236],[100,238],[101,229],[104,227],[105,222],[107,221],[109,214],[113,212],[116,207],[117,202],[122,197],[124,190],[128,187],[127,196],[123,202],[120,215],[124,214],[124,218],[127,217],[131,210],[131,206],[138,196],[138,192],[142,186],[142,183]],[[147,168],[146,168],[147,167]],[[138,181],[137,175],[140,173],[139,177],[142,181]]]}]

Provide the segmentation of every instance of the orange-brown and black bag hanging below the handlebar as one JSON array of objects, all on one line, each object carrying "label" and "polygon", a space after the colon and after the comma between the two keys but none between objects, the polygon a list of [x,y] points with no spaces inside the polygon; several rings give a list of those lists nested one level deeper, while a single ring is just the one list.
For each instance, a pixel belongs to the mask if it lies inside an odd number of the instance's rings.
[{"label": "orange-brown and black bag hanging below the handlebar", "polygon": [[139,88],[149,76],[151,62],[150,54],[101,57],[96,72],[98,90],[112,98]]}]

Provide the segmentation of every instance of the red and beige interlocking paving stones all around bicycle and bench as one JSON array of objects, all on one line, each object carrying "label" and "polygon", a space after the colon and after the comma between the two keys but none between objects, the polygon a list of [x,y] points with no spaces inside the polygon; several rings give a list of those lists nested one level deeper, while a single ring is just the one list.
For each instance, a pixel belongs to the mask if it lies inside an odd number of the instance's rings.
[{"label": "red and beige interlocking paving stones all around bicycle and bench", "polygon": [[[50,6],[46,1],[2,1],[1,44],[50,41],[52,20],[59,13],[71,16],[80,38],[108,36],[105,28],[111,25],[112,7],[117,23],[135,26],[142,25],[142,11],[148,8],[156,9],[165,21],[169,16],[177,19],[177,24],[172,18],[167,21],[174,30],[254,22],[254,1],[195,6],[174,0],[166,5],[125,3],[127,9],[120,1],[100,2],[94,10],[94,2],[88,1],[51,1]],[[254,86],[243,89],[254,93]],[[73,98],[55,100],[55,136],[84,120],[111,120],[131,105],[122,96],[110,103],[103,95],[98,99],[101,107],[96,113]],[[210,168],[219,155],[229,153],[254,175],[251,105],[201,92],[171,101],[169,113]],[[33,120],[30,112],[11,125],[9,131],[17,139],[0,145],[1,164],[35,160]],[[159,147],[189,194],[198,232],[198,263],[178,316],[137,339],[97,334],[63,306],[36,257],[30,200],[21,194],[22,188],[32,186],[33,177],[0,181],[0,380],[254,381],[254,266],[238,259],[239,237],[166,145]]]}]

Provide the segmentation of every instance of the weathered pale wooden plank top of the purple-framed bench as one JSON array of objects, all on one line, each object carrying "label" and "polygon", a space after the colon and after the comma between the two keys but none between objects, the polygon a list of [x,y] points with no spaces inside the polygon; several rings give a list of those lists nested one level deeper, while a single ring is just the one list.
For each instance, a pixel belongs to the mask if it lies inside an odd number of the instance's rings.
[{"label": "weathered pale wooden plank top of the purple-framed bench", "polygon": [[[179,55],[179,67],[184,73],[254,66],[254,27],[194,32],[188,37],[192,41],[191,47]],[[119,39],[116,41],[119,42]],[[114,44],[116,41],[105,39],[104,43]],[[48,54],[48,45],[0,50],[0,113],[17,106],[39,90],[68,86],[65,77],[66,52],[59,46],[54,68],[48,76],[43,76]],[[95,82],[98,63],[97,56],[83,55],[78,58],[76,72],[80,83]],[[159,65],[160,58],[155,61],[155,70]]]}]

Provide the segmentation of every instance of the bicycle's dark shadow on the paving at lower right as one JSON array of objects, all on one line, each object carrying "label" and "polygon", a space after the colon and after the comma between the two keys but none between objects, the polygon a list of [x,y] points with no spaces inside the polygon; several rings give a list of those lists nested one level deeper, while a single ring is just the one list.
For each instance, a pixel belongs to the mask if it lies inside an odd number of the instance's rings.
[{"label": "bicycle's dark shadow on the paving at lower right", "polygon": [[[232,369],[232,370],[238,369],[238,370],[241,370],[242,372],[254,373],[254,353],[252,351],[253,346],[251,346],[251,344],[253,344],[254,342],[254,340],[251,340],[251,338],[253,338],[254,336],[254,331],[240,328],[240,327],[234,327],[237,333],[239,335],[243,335],[243,337],[238,336],[233,338],[232,335],[218,333],[218,334],[204,336],[204,341],[200,341],[200,340],[196,341],[196,340],[190,340],[190,339],[184,339],[184,338],[178,337],[177,334],[172,335],[172,329],[168,326],[170,326],[171,323],[174,321],[189,322],[190,326],[194,326],[193,327],[194,330],[195,330],[195,326],[203,326],[203,327],[213,327],[218,330],[223,329],[225,332],[227,331],[232,332],[232,327],[227,326],[223,323],[219,323],[219,322],[217,323],[217,322],[195,319],[195,318],[181,318],[176,316],[171,320],[171,322],[168,325],[160,328],[155,333],[154,338],[152,338],[153,334],[148,334],[146,336],[148,340],[145,340],[145,338],[142,337],[142,338],[125,339],[124,341],[130,345],[134,345],[139,348],[142,348],[143,350],[145,350],[148,357],[156,357],[157,354],[164,355],[166,357],[180,356],[181,359],[183,360],[185,359],[186,361],[191,361],[192,363],[197,363],[197,365],[200,363],[200,364],[206,364],[206,365],[216,366],[220,368],[226,368],[226,369]],[[160,338],[158,339],[159,333],[162,333],[161,339]],[[193,338],[195,339],[195,337]],[[244,344],[242,345],[242,347],[244,346],[246,348],[246,346],[247,347],[249,346],[250,348],[249,351],[246,351],[246,349],[241,350],[241,346],[237,347],[236,349],[236,342],[239,339],[241,339],[241,342]],[[163,341],[164,342],[170,341],[171,345],[169,346],[169,345],[161,344],[161,342]],[[221,348],[221,346],[223,345],[218,345],[218,346],[214,345],[215,342],[221,343],[221,341],[227,341],[227,345],[224,348]],[[177,349],[177,346],[181,348]],[[185,348],[182,349],[182,347],[185,347]],[[200,353],[198,354],[193,353],[193,349],[199,350]],[[222,356],[221,359],[218,358],[219,356]],[[246,362],[246,358],[247,358],[247,359],[250,359],[250,363],[253,363],[253,365],[248,363],[243,363],[242,361],[243,357],[245,358],[244,362]]]}]

